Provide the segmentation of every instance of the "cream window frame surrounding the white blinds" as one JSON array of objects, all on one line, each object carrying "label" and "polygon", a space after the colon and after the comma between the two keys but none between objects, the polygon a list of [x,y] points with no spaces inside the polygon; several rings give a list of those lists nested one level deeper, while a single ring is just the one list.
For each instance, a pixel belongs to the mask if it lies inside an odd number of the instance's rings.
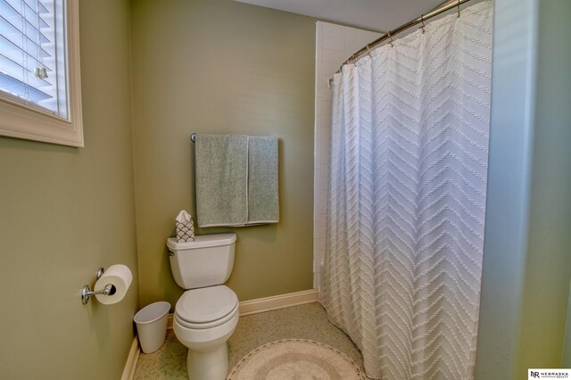
[{"label": "cream window frame surrounding the white blinds", "polygon": [[79,71],[79,0],[67,0],[68,105],[66,119],[27,106],[8,97],[0,97],[0,136],[23,138],[45,143],[84,146]]}]

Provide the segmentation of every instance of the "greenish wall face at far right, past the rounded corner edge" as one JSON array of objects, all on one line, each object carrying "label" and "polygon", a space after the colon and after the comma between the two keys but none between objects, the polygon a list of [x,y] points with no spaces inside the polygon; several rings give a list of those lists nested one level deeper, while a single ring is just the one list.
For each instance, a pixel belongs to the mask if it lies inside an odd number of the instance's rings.
[{"label": "greenish wall face at far right, past the rounded corner edge", "polygon": [[571,2],[539,2],[534,160],[517,378],[560,368],[571,279]]}]

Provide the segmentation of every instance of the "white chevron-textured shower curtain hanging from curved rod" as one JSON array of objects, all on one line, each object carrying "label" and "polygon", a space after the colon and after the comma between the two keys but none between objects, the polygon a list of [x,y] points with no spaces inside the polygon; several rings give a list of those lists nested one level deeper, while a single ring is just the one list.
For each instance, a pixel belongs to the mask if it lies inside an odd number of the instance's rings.
[{"label": "white chevron-textured shower curtain hanging from curved rod", "polygon": [[484,1],[335,74],[320,301],[370,377],[474,377],[491,66]]}]

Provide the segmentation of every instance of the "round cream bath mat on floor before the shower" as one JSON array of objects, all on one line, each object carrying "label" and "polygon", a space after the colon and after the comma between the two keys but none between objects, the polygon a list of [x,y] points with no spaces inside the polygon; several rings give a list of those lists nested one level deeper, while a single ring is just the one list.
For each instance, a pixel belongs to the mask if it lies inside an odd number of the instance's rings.
[{"label": "round cream bath mat on floor before the shower", "polygon": [[228,380],[363,380],[355,362],[326,344],[306,339],[266,343],[248,353]]}]

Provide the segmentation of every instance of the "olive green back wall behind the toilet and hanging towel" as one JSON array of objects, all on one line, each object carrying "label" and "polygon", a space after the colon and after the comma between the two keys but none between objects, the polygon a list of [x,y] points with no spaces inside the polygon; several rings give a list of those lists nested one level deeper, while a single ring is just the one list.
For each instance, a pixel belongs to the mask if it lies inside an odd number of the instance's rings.
[{"label": "olive green back wall behind the toilet and hanging towel", "polygon": [[241,301],[312,288],[315,20],[229,0],[134,0],[132,90],[141,304],[182,289],[166,251],[194,214],[192,132],[279,137],[280,221],[236,231]]}]

